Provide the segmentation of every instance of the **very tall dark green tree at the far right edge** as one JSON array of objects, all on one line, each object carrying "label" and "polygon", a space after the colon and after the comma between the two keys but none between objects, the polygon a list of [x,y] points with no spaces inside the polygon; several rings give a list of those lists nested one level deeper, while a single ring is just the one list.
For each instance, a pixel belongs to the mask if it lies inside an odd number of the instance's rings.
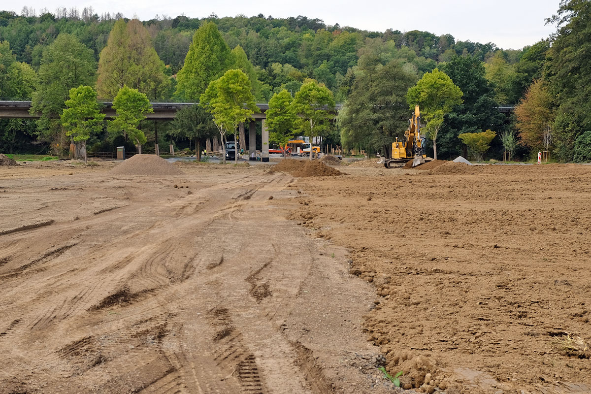
[{"label": "very tall dark green tree at the far right edge", "polygon": [[556,151],[563,161],[573,159],[579,135],[591,129],[591,2],[562,0],[550,19],[557,32],[547,56],[545,79],[556,97]]}]

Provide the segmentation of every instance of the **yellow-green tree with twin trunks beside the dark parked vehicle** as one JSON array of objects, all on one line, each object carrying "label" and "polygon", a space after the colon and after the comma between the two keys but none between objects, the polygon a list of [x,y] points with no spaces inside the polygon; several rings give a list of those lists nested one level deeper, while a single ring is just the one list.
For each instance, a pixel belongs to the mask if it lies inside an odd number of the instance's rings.
[{"label": "yellow-green tree with twin trunks beside the dark parked vehicle", "polygon": [[228,70],[223,76],[209,83],[200,97],[200,103],[213,116],[213,122],[222,138],[223,162],[226,162],[226,132],[234,133],[234,160],[238,162],[238,125],[251,119],[258,112],[255,97],[251,92],[251,83],[242,70]]}]

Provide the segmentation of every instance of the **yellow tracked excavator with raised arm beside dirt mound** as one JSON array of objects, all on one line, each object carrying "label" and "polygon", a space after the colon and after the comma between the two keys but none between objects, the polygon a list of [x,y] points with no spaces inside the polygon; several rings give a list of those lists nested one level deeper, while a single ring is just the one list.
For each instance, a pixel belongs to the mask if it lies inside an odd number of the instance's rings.
[{"label": "yellow tracked excavator with raised arm beside dirt mound", "polygon": [[421,136],[421,112],[418,105],[414,108],[413,117],[408,120],[408,129],[404,132],[404,141],[392,142],[392,147],[384,148],[384,167],[393,168],[396,163],[413,159],[413,167],[425,162],[425,137]]}]

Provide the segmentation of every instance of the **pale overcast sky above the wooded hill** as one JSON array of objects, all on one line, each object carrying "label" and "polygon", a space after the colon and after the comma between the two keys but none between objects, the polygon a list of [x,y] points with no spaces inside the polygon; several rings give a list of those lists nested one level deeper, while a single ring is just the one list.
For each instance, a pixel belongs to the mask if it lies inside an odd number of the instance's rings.
[{"label": "pale overcast sky above the wooded hill", "polygon": [[[20,7],[12,10],[20,14],[22,6],[27,5],[37,12],[43,7],[54,12],[57,6],[76,6],[82,11],[85,6],[92,6],[99,15],[103,12],[122,12],[127,18],[135,15],[141,20],[152,19],[157,14],[160,17],[167,15],[174,18],[184,14],[191,18],[203,18],[212,12],[218,17],[264,14],[285,18],[304,15],[310,19],[322,19],[329,25],[338,23],[341,26],[349,25],[373,31],[391,28],[403,32],[425,30],[437,35],[449,33],[456,41],[492,42],[501,48],[519,49],[548,37],[555,30],[551,25],[544,25],[544,18],[551,17],[556,12],[558,2],[559,0],[24,0],[22,3],[12,3]],[[4,7],[7,5],[0,6]]]}]

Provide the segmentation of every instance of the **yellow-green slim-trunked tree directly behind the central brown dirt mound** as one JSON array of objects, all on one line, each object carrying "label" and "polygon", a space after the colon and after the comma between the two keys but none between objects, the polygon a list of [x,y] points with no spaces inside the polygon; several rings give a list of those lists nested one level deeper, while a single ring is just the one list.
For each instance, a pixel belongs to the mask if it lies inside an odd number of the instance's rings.
[{"label": "yellow-green slim-trunked tree directly behind the central brown dirt mound", "polygon": [[294,112],[298,115],[298,129],[310,137],[310,160],[313,157],[314,138],[329,128],[335,118],[335,99],[332,92],[315,80],[304,83],[293,100]]}]

